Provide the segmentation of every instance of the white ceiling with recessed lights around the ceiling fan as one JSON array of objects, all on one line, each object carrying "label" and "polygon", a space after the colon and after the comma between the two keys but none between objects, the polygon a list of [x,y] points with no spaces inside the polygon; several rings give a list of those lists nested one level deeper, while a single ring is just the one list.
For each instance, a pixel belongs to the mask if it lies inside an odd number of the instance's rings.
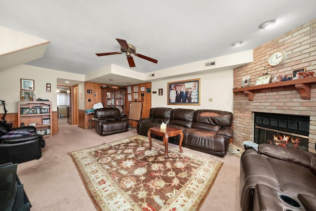
[{"label": "white ceiling with recessed lights around the ceiling fan", "polygon": [[[315,8],[316,0],[0,0],[0,26],[50,42],[27,65],[87,75],[114,64],[145,74],[253,49],[316,18]],[[258,29],[270,19],[276,24]],[[119,51],[116,38],[158,64],[134,56],[130,68],[124,54],[95,55]]]}]

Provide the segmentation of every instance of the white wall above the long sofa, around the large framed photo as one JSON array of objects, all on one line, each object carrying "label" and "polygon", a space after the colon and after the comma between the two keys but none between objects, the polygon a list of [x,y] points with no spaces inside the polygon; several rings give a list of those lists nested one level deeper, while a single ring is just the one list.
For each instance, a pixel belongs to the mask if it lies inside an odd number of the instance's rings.
[{"label": "white wall above the long sofa, around the large framed photo", "polygon": [[[168,87],[170,82],[183,80],[200,79],[201,98],[200,105],[168,105]],[[188,108],[188,109],[214,109],[233,112],[233,70],[225,70],[202,74],[190,77],[174,78],[172,80],[162,80],[152,82],[152,107]],[[158,95],[158,89],[163,88],[163,95]],[[208,102],[208,98],[213,98],[213,102]]]}]

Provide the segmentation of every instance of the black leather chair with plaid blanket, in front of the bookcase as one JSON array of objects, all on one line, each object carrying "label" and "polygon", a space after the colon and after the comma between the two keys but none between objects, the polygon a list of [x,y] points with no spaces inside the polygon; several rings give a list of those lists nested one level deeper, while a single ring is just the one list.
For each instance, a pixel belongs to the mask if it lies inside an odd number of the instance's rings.
[{"label": "black leather chair with plaid blanket, in front of the bookcase", "polygon": [[35,127],[9,128],[0,122],[0,164],[40,159],[42,137]]}]

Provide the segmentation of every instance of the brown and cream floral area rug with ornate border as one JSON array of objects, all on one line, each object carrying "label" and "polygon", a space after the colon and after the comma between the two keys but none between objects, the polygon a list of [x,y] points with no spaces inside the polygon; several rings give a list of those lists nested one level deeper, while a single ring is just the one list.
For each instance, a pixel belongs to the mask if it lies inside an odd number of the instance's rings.
[{"label": "brown and cream floral area rug with ornate border", "polygon": [[197,211],[223,165],[141,135],[69,155],[98,211]]}]

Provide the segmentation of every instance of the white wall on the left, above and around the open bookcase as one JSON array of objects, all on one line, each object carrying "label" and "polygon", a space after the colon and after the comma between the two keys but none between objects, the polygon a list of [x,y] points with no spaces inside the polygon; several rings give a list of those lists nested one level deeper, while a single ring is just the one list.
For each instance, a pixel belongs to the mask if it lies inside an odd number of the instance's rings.
[{"label": "white wall on the left, above and around the open bookcase", "polygon": [[[52,102],[52,111],[57,111],[57,78],[83,81],[84,75],[19,65],[0,71],[0,100],[5,101],[8,113],[17,113],[17,101],[20,100],[21,90],[20,79],[30,79],[34,80],[36,98],[48,99]],[[46,83],[51,84],[51,92],[46,92]],[[4,113],[4,110],[0,110],[0,113]]]}]

